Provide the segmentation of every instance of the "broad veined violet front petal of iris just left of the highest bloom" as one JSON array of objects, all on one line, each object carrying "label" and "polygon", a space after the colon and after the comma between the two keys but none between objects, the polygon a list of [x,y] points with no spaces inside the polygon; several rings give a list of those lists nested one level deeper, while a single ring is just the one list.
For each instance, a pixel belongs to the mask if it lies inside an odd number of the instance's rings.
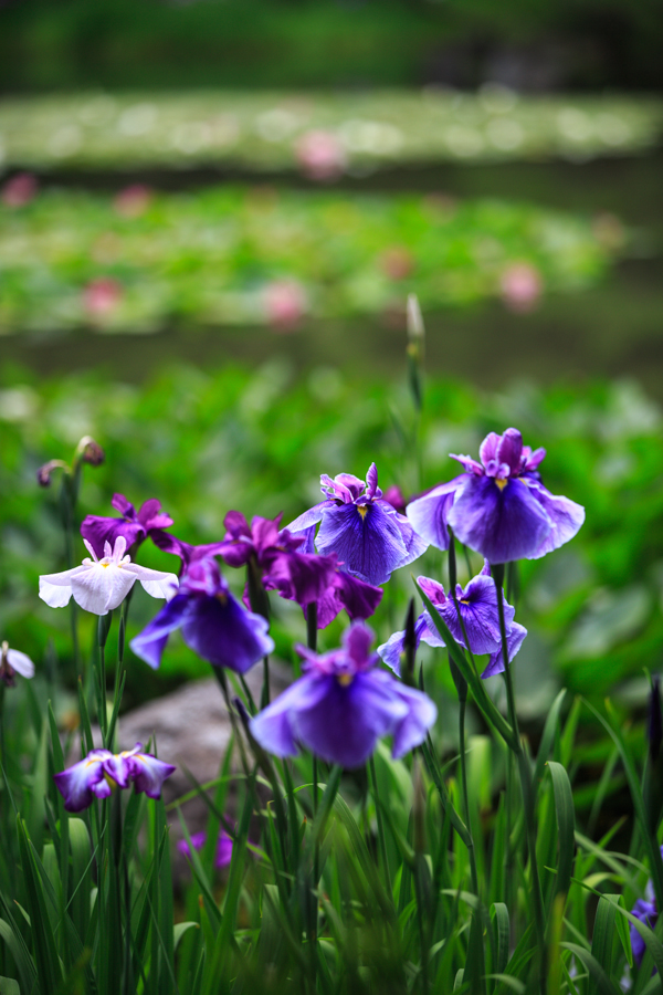
[{"label": "broad veined violet front petal of iris just left of the highest bloom", "polygon": [[367,584],[385,584],[408,558],[394,514],[380,504],[344,504],[323,519],[318,553],[336,553],[344,569]]}]

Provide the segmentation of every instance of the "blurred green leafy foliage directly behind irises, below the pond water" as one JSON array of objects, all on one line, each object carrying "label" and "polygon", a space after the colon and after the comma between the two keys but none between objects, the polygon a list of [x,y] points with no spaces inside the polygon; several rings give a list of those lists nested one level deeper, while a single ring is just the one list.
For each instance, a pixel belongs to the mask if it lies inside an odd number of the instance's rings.
[{"label": "blurred green leafy foliage directly behind irises, below the pond water", "polygon": [[[498,344],[495,344],[498,347]],[[594,384],[579,391],[558,386],[540,391],[516,385],[481,395],[460,383],[428,384],[421,426],[423,476],[419,478],[414,420],[404,386],[314,369],[295,380],[287,365],[272,362],[201,371],[178,366],[147,388],[72,376],[31,383],[6,371],[0,390],[0,632],[42,666],[51,638],[66,669],[69,617],[38,598],[38,577],[65,566],[57,480],[36,485],[40,464],[67,459],[84,433],[106,450],[98,469],[85,468],[81,516],[112,514],[115,491],[140,504],[157,496],[172,515],[172,531],[189,542],[223,535],[231,509],[253,514],[284,512],[287,523],[318,498],[319,474],[362,476],[376,460],[380,484],[406,494],[450,479],[457,464],[449,452],[475,453],[490,430],[518,426],[527,443],[544,444],[544,480],[587,507],[587,522],[568,547],[523,564],[518,620],[529,629],[517,661],[523,718],[544,713],[560,683],[600,699],[619,683],[618,703],[642,704],[643,669],[660,666],[663,650],[663,470],[659,408],[631,383]],[[85,555],[83,544],[77,554]],[[140,559],[171,569],[172,558],[146,543]],[[442,557],[429,551],[415,574],[440,576]],[[473,556],[473,569],[481,563]],[[462,567],[463,569],[463,567]],[[243,574],[229,572],[235,589]],[[446,583],[446,578],[442,578]],[[381,640],[402,627],[412,585],[397,573],[378,609]],[[292,603],[273,598],[277,652],[290,658],[302,639],[303,617]],[[130,635],[155,614],[136,591]],[[84,614],[83,614],[84,615]],[[84,619],[84,646],[96,628]],[[340,621],[322,636],[334,646]],[[41,661],[41,662],[40,662]],[[134,660],[130,700],[167,685],[150,682]],[[164,673],[207,672],[173,639]]]}]

